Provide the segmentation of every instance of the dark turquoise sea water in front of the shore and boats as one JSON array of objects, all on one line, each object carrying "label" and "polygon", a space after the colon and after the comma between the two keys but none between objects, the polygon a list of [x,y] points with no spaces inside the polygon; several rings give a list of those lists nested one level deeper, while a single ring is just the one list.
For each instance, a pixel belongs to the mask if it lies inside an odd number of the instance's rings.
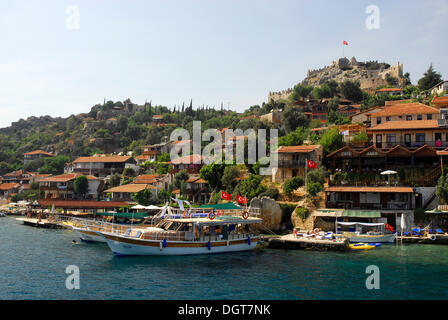
[{"label": "dark turquoise sea water in front of the shore and boats", "polygon": [[[448,246],[119,258],[105,244],[73,239],[1,218],[0,299],[448,298]],[[68,265],[80,269],[79,290],[65,287]],[[369,265],[380,269],[380,290],[366,289]]]}]

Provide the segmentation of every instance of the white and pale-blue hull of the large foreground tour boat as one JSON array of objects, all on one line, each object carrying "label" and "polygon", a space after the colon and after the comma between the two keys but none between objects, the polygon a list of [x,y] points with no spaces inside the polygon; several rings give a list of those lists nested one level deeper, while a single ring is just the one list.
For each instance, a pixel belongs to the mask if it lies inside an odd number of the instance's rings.
[{"label": "white and pale-blue hull of the large foreground tour boat", "polygon": [[177,256],[196,254],[215,254],[225,252],[249,251],[257,246],[258,237],[238,240],[218,240],[209,243],[201,241],[167,241],[166,247],[159,240],[141,240],[102,234],[109,248],[117,256]]}]

